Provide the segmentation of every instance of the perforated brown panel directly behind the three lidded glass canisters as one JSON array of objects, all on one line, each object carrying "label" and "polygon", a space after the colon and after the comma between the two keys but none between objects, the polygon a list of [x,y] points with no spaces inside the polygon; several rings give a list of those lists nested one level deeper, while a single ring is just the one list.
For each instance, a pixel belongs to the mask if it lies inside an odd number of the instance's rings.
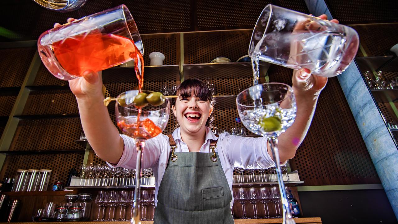
[{"label": "perforated brown panel directly behind the three lidded glass canisters", "polygon": [[45,155],[7,155],[0,179],[14,177],[17,169],[50,169],[52,170],[49,190],[55,181],[66,183],[71,168],[77,169],[83,163],[82,153],[61,153]]}]

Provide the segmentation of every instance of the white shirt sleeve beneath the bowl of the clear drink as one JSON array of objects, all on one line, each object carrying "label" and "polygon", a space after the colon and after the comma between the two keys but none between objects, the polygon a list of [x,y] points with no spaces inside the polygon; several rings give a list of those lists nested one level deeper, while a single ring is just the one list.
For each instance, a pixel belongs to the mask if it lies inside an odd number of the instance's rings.
[{"label": "white shirt sleeve beneath the bowl of the clear drink", "polygon": [[249,138],[226,134],[221,137],[221,140],[226,141],[224,150],[230,164],[234,167],[267,169],[275,166],[275,162],[268,154],[266,136]]}]

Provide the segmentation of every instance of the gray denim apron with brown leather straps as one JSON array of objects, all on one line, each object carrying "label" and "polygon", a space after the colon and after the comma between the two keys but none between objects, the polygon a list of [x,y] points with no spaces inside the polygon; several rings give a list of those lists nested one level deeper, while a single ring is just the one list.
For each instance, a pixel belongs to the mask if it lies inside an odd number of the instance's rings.
[{"label": "gray denim apron with brown leather straps", "polygon": [[212,153],[172,152],[160,183],[154,224],[233,224],[228,186],[216,141]]}]

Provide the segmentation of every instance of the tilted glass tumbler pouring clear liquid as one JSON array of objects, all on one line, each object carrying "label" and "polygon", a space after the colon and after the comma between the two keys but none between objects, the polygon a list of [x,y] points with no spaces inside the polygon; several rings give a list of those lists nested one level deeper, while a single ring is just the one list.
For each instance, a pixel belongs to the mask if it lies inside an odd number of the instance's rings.
[{"label": "tilted glass tumbler pouring clear liquid", "polygon": [[268,4],[254,27],[249,55],[334,77],[353,61],[358,46],[358,33],[353,28]]}]

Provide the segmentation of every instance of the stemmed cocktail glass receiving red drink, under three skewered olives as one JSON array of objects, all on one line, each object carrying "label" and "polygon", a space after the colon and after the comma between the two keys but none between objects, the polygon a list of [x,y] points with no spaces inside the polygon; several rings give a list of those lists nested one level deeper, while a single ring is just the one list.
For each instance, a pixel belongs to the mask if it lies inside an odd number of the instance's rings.
[{"label": "stemmed cocktail glass receiving red drink, under three skewered olives", "polygon": [[[166,128],[170,116],[170,101],[159,97],[152,105],[144,105],[140,96],[151,91],[129,90],[117,96],[115,114],[117,126],[123,134],[134,138],[137,147],[136,175],[132,223],[140,223],[140,177],[145,140],[153,138]],[[153,95],[153,94],[152,94]],[[136,99],[137,97],[137,99]],[[154,105],[158,106],[154,106]]]}]

